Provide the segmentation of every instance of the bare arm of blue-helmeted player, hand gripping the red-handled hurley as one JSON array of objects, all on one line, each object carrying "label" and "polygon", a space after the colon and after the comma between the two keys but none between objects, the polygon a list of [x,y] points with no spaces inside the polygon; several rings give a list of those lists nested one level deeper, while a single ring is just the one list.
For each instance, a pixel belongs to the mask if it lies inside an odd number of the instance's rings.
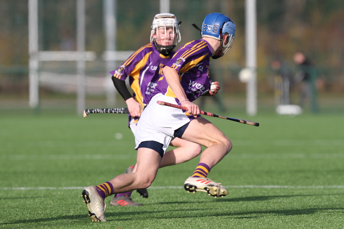
[{"label": "bare arm of blue-helmeted player, hand gripping the red-handled hurley", "polygon": [[181,104],[187,107],[187,112],[194,116],[200,114],[200,108],[198,108],[196,104],[190,102],[189,100],[186,100],[187,97],[182,85],[180,84],[178,71],[168,66],[165,66],[162,70],[165,75],[166,82],[169,84],[170,88],[172,89],[173,93],[177,96],[179,101],[185,100],[181,102]]}]

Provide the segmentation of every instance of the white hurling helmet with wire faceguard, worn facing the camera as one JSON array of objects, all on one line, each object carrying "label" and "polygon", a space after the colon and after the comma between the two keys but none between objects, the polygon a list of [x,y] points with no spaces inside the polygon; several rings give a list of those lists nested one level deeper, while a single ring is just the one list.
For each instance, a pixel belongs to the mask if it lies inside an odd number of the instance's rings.
[{"label": "white hurling helmet with wire faceguard, worn facing the camera", "polygon": [[[179,25],[181,23],[178,23],[175,15],[172,13],[159,13],[154,16],[150,41],[154,42],[155,48],[162,55],[170,55],[177,43],[180,42]],[[166,30],[169,28],[172,28],[172,34],[166,33]],[[154,34],[155,38],[153,37]]]}]

